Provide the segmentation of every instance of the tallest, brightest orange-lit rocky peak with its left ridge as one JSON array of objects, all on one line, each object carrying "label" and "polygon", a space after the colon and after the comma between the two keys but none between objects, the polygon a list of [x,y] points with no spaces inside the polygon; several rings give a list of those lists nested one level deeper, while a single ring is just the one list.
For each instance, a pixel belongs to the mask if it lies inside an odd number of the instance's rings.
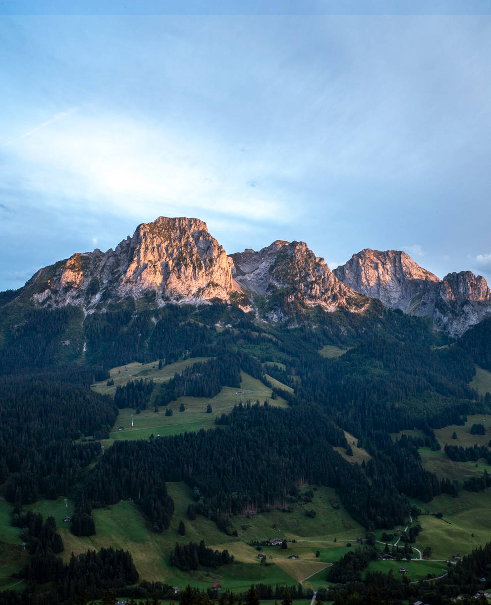
[{"label": "tallest, brightest orange-lit rocky peak with its left ridge", "polygon": [[196,218],[141,224],[115,250],[76,253],[39,270],[25,286],[41,306],[103,308],[127,298],[154,304],[228,301],[231,261]]}]

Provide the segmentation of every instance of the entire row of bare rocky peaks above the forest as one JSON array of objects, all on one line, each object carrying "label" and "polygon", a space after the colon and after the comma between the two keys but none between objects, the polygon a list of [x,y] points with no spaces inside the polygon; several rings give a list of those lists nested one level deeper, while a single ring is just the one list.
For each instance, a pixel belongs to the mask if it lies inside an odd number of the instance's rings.
[{"label": "entire row of bare rocky peaks above the forest", "polygon": [[482,276],[443,280],[398,250],[363,249],[333,271],[304,242],[276,240],[259,251],[227,255],[197,218],[160,217],[140,224],[115,250],[75,253],[37,271],[16,293],[37,307],[113,304],[137,308],[167,302],[226,302],[270,322],[298,324],[309,310],[362,313],[370,299],[428,317],[457,338],[491,314]]}]

